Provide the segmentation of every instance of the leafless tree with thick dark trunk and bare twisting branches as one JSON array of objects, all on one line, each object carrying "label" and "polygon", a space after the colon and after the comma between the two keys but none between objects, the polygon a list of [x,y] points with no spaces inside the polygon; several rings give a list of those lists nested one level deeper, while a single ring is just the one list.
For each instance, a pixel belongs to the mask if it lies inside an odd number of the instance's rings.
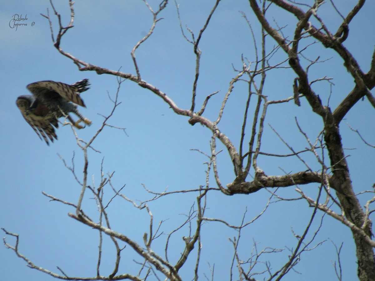
[{"label": "leafless tree with thick dark trunk and bare twisting branches", "polygon": [[[130,55],[135,68],[133,74],[130,70],[127,70],[128,72],[122,72],[120,70],[110,70],[87,63],[86,61],[75,57],[74,54],[63,50],[61,47],[62,39],[67,36],[67,31],[73,28],[75,17],[74,3],[69,0],[71,19],[69,24],[65,26],[62,23],[60,14],[55,10],[51,1],[52,10],[59,25],[57,32],[52,28],[54,16],[49,13],[43,16],[49,21],[52,41],[58,52],[72,60],[80,71],[95,71],[98,74],[114,75],[117,77],[118,82],[118,90],[115,99],[112,100],[113,110],[110,114],[104,116],[104,121],[93,138],[90,139],[90,141],[85,142],[81,140],[75,132],[77,144],[80,146],[84,157],[83,175],[76,173],[74,161],[72,166],[69,166],[65,160],[63,160],[65,166],[71,170],[77,183],[82,187],[78,203],[66,202],[65,200],[58,199],[52,195],[44,194],[51,200],[71,206],[75,209],[74,213],[69,213],[71,218],[98,230],[100,236],[97,275],[85,278],[69,277],[61,269],[59,269],[60,274],[56,274],[37,266],[31,262],[31,260],[27,259],[27,257],[23,256],[18,250],[18,235],[4,230],[7,235],[17,237],[15,246],[8,244],[4,240],[6,247],[15,251],[15,253],[24,259],[31,268],[35,268],[51,275],[52,277],[63,280],[146,280],[149,278],[152,278],[153,280],[155,280],[155,278],[159,280],[161,278],[169,280],[184,280],[186,278],[181,276],[180,269],[183,268],[183,266],[188,266],[188,257],[194,256],[195,263],[193,265],[193,279],[198,280],[199,265],[202,262],[205,262],[201,260],[201,227],[203,223],[214,221],[237,232],[237,236],[230,239],[230,242],[233,244],[230,280],[257,280],[257,278],[264,280],[280,280],[288,274],[288,272],[295,270],[296,265],[301,259],[302,253],[313,250],[315,247],[321,245],[323,241],[315,241],[315,238],[323,224],[323,217],[330,217],[330,220],[339,221],[342,224],[343,229],[348,227],[353,234],[353,242],[356,247],[358,261],[357,274],[359,280],[375,280],[375,260],[373,249],[375,247],[375,241],[372,239],[372,223],[370,220],[370,215],[374,212],[374,209],[372,209],[372,203],[375,201],[374,189],[367,190],[367,188],[365,188],[364,190],[361,190],[359,194],[354,192],[347,163],[347,155],[344,151],[340,132],[342,120],[344,120],[344,117],[358,101],[366,99],[366,102],[371,103],[375,108],[375,98],[371,94],[371,90],[375,86],[375,52],[372,55],[372,58],[369,58],[369,60],[371,60],[371,65],[366,73],[362,70],[362,67],[359,65],[356,58],[354,58],[353,54],[351,54],[351,52],[344,46],[344,42],[349,36],[350,23],[360,9],[362,9],[365,1],[359,0],[346,16],[341,15],[333,1],[327,1],[326,3],[321,0],[311,0],[308,2],[308,4],[299,4],[294,1],[284,0],[260,2],[249,0],[250,10],[242,12],[242,16],[244,21],[248,23],[248,34],[252,37],[254,42],[254,58],[248,59],[245,56],[242,56],[242,60],[240,61],[242,67],[237,69],[233,66],[236,75],[231,81],[228,81],[229,87],[222,97],[221,106],[217,112],[217,118],[209,119],[208,117],[205,117],[206,106],[209,104],[210,99],[219,98],[218,95],[216,95],[218,92],[214,92],[206,95],[202,105],[198,105],[199,91],[197,90],[197,87],[200,82],[199,76],[202,55],[200,42],[205,36],[206,29],[210,25],[212,16],[215,15],[217,11],[220,0],[216,0],[216,3],[213,3],[213,7],[207,15],[205,24],[201,27],[198,33],[195,33],[189,27],[184,27],[183,18],[180,16],[180,8],[176,2],[169,3],[168,0],[163,0],[155,10],[154,7],[151,7],[147,1],[144,0],[145,5],[150,10],[153,17],[153,22],[145,37],[139,40],[131,51]],[[338,15],[342,18],[338,30],[329,30],[324,23],[323,18],[320,16],[320,10],[324,7],[323,4],[332,5]],[[149,40],[150,36],[153,34],[154,28],[161,19],[160,13],[162,13],[167,7],[176,9],[176,14],[180,21],[181,36],[183,36],[191,45],[192,52],[195,55],[195,79],[192,81],[190,108],[184,109],[178,107],[174,100],[159,89],[157,85],[153,85],[150,82],[143,80],[142,69],[139,67],[135,55],[139,46],[141,46],[146,40]],[[287,13],[287,15],[291,17],[291,21],[296,23],[296,26],[292,29],[281,27],[277,20],[272,19],[273,14],[270,12],[271,9]],[[254,13],[257,18],[257,24],[260,26],[260,34],[256,34],[253,30],[253,23],[249,20],[250,13]],[[268,16],[269,13],[270,16]],[[272,45],[273,47],[269,48],[269,45]],[[317,83],[327,83],[332,85],[333,78],[327,76],[311,78],[309,70],[312,67],[317,66],[318,63],[324,63],[324,61],[326,61],[320,57],[310,59],[310,55],[305,55],[307,52],[306,50],[311,48],[312,45],[319,45],[322,52],[326,48],[332,50],[336,57],[342,59],[345,69],[354,79],[353,88],[343,96],[333,110],[329,106],[330,93],[326,95],[328,96],[328,98],[325,99],[326,101],[323,101],[323,98],[320,97],[322,94],[318,95],[314,90],[314,86]],[[274,57],[276,56],[279,61],[275,63]],[[234,63],[234,65],[236,64],[238,63]],[[268,93],[266,90],[267,83],[272,83],[272,80],[270,80],[267,75],[269,75],[269,73],[284,71],[291,73],[288,81],[291,85],[290,93],[283,94],[284,96],[282,98],[274,98],[273,93]],[[207,157],[207,162],[205,163],[207,164],[205,185],[189,190],[165,190],[163,192],[154,192],[148,190],[147,187],[144,186],[151,198],[137,203],[135,200],[130,199],[125,194],[121,193],[122,187],[113,186],[111,181],[113,173],[104,176],[103,169],[101,170],[99,184],[95,183],[95,181],[93,181],[92,184],[89,184],[87,173],[89,157],[87,151],[89,149],[96,150],[93,146],[93,142],[95,141],[96,136],[102,132],[104,127],[113,127],[108,123],[108,119],[119,104],[117,94],[120,90],[120,85],[124,80],[132,81],[139,87],[145,88],[150,91],[150,93],[160,97],[176,115],[187,117],[187,121],[190,125],[193,126],[199,123],[211,132],[210,152],[205,153],[197,149],[197,152]],[[238,145],[231,141],[228,134],[220,129],[219,126],[224,112],[225,114],[238,114],[238,112],[226,111],[229,97],[233,93],[234,85],[237,83],[245,83],[248,87],[246,103],[239,107],[239,111],[242,112],[243,121],[240,134],[237,136],[239,139]],[[315,139],[312,140],[309,137],[309,134],[305,132],[302,126],[300,126],[299,120],[295,118],[296,130],[305,139],[306,143],[308,143],[308,147],[294,149],[292,145],[284,139],[285,136],[278,130],[274,129],[272,124],[270,124],[270,128],[279,137],[279,141],[284,143],[290,152],[288,154],[276,154],[262,149],[261,146],[264,130],[268,126],[265,119],[269,108],[279,107],[281,109],[279,118],[282,118],[283,105],[294,103],[297,108],[298,106],[301,106],[303,100],[307,101],[309,110],[320,117],[323,124],[318,136],[315,136]],[[252,112],[254,112],[254,114],[252,114]],[[72,129],[74,130],[73,127]],[[370,145],[372,148],[374,147],[374,145],[371,144],[371,141],[366,141],[362,138],[360,132],[356,129],[352,130],[363,140],[363,145]],[[360,145],[361,143],[359,143],[359,146]],[[222,150],[227,151],[231,160],[229,163],[226,163],[226,165],[220,164],[222,162],[218,161],[218,157],[220,157],[219,153]],[[307,153],[313,155],[315,159],[313,166],[309,164],[310,161],[306,160],[305,155]],[[328,154],[328,157],[326,157],[326,154]],[[266,172],[264,172],[267,170],[267,167],[261,166],[262,157],[282,159],[281,161],[284,163],[287,163],[286,161],[290,158],[297,158],[302,164],[302,168],[293,173],[287,172],[284,169],[285,172],[283,175],[267,175]],[[231,167],[229,168],[229,166]],[[222,171],[224,169],[234,170],[233,182],[226,185],[220,180],[220,170]],[[214,187],[212,187],[212,183],[210,182],[212,176],[216,182]],[[371,177],[372,175],[364,176]],[[311,190],[307,192],[304,188],[305,186],[310,187],[314,192]],[[294,189],[297,197],[290,198],[282,196],[279,191],[281,188],[286,187]],[[372,188],[374,188],[374,186]],[[110,200],[104,200],[104,190],[113,191],[113,197],[111,197]],[[247,221],[246,212],[240,225],[233,225],[227,220],[221,218],[210,218],[205,215],[207,209],[207,197],[211,193],[221,192],[228,196],[244,194],[242,196],[245,196],[246,194],[257,193],[260,190],[267,190],[269,192],[269,200],[266,206],[264,206],[263,211],[252,220]],[[96,200],[99,220],[90,218],[82,208],[84,194],[87,192],[89,192]],[[154,241],[162,233],[161,229],[163,223],[161,221],[155,226],[153,212],[149,206],[149,202],[176,193],[194,193],[196,194],[196,199],[195,202],[192,203],[191,209],[186,212],[186,220],[176,226],[173,231],[168,233],[164,253],[158,253],[153,250],[153,245]],[[368,196],[364,208],[360,205],[359,200],[359,196],[363,194]],[[125,202],[129,202],[135,208],[145,210],[149,215],[149,230],[147,233],[144,233],[144,245],[140,245],[136,241],[130,239],[126,233],[120,233],[111,228],[107,209],[110,208],[110,203],[115,197],[124,199]],[[257,242],[255,241],[251,253],[248,253],[247,256],[244,257],[243,253],[240,251],[241,245],[239,244],[243,229],[249,227],[254,221],[258,220],[270,206],[270,203],[281,201],[288,202],[292,200],[305,200],[307,205],[312,208],[312,213],[310,219],[306,222],[305,230],[302,233],[296,233],[293,231],[293,235],[297,242],[295,245],[289,247],[290,253],[283,265],[278,269],[275,269],[267,261],[267,256],[269,256],[269,254],[279,253],[283,251],[283,249],[266,247],[263,250],[258,250]],[[317,225],[316,227],[312,227],[314,223]],[[172,245],[169,240],[172,236],[176,235],[177,232],[180,233],[181,229],[187,233],[183,236],[185,244],[184,248],[171,250]],[[117,258],[113,272],[108,276],[103,276],[100,273],[101,249],[102,240],[106,236],[113,242]],[[138,256],[138,259],[142,259],[141,261],[135,259],[135,264],[138,265],[138,272],[136,274],[121,273],[118,270],[121,260],[121,251],[123,251],[125,247],[130,247],[135,253],[135,256]],[[341,247],[338,248],[335,245],[338,263],[335,262],[334,266],[339,280],[342,279],[342,269],[340,264]],[[171,251],[180,253],[178,259],[171,259],[168,257],[168,254],[171,253]],[[214,266],[210,266],[210,269],[211,277],[205,276],[205,278],[213,280]]]}]

